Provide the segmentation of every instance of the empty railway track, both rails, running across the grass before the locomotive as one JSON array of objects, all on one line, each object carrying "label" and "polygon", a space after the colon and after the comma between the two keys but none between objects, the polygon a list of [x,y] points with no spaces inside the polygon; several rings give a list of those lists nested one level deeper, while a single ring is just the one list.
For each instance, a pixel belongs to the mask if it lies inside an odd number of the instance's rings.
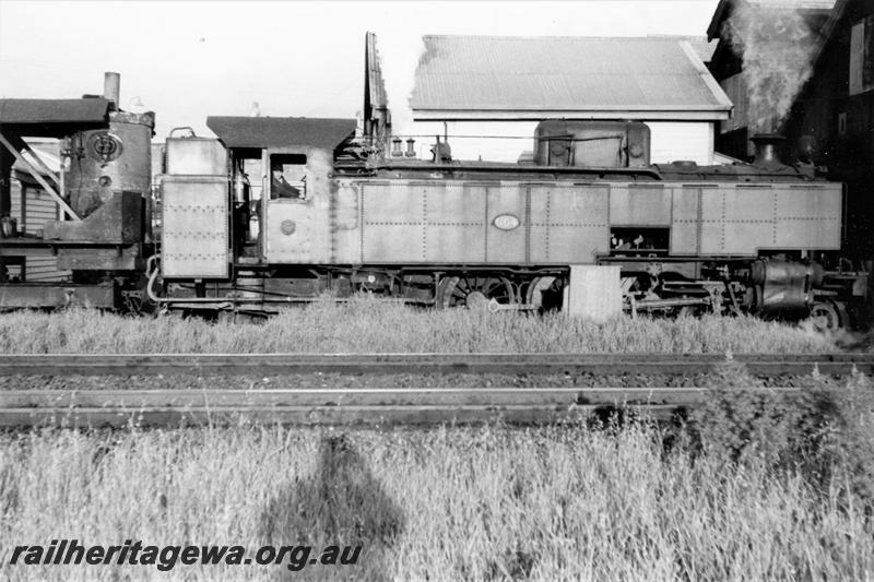
[{"label": "empty railway track, both rails, running across the grass before the locomotive", "polygon": [[[755,376],[874,371],[874,354],[734,356]],[[593,375],[693,376],[721,355],[571,354],[189,354],[0,356],[0,376],[198,375]],[[14,382],[14,380],[13,380]],[[626,382],[627,383],[627,382]],[[775,391],[793,392],[792,388]],[[5,390],[0,427],[433,425],[500,418],[508,423],[579,419],[623,407],[657,418],[694,407],[700,388],[323,388],[270,390]]]}]

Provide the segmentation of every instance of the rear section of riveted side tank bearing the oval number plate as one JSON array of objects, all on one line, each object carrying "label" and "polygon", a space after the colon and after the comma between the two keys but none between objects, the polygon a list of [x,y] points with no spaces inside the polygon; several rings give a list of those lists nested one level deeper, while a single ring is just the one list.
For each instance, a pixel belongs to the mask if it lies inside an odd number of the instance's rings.
[{"label": "rear section of riveted side tank bearing the oval number plate", "polygon": [[357,193],[361,262],[591,263],[607,248],[607,190],[520,180],[343,180]]}]

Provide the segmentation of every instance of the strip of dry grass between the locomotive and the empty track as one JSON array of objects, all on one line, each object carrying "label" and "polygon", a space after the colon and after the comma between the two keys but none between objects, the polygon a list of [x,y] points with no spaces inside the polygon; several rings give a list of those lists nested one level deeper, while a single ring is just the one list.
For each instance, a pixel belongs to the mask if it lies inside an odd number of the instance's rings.
[{"label": "strip of dry grass between the locomotive and the empty track", "polygon": [[560,313],[534,317],[421,310],[368,297],[328,300],[263,324],[178,317],[123,318],[93,310],[0,316],[0,353],[823,353],[835,341],[754,318],[631,320],[603,324]]}]

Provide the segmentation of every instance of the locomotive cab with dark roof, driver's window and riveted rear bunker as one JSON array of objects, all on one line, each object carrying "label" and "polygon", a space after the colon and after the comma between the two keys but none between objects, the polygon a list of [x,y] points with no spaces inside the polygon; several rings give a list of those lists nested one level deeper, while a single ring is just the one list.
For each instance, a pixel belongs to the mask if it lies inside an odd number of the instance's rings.
[{"label": "locomotive cab with dark roof, driver's window and riveted rear bunker", "polygon": [[334,150],[355,122],[210,117],[206,124],[217,140],[167,140],[161,274],[180,288],[193,281],[204,302],[208,295],[239,302],[252,286],[263,299],[276,268],[331,252]]}]

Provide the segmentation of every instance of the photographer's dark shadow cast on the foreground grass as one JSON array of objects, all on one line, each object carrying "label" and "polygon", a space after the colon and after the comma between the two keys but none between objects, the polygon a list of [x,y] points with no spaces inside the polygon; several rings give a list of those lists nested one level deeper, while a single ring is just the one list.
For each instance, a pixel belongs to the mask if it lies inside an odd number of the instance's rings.
[{"label": "photographer's dark shadow cast on the foreground grass", "polygon": [[[311,476],[290,483],[261,513],[262,544],[312,547],[308,556],[297,551],[273,566],[273,579],[391,580],[387,554],[403,531],[400,508],[345,436],[323,438],[319,456]],[[328,546],[339,547],[334,565],[321,563]],[[341,558],[355,563],[342,565]]]}]

